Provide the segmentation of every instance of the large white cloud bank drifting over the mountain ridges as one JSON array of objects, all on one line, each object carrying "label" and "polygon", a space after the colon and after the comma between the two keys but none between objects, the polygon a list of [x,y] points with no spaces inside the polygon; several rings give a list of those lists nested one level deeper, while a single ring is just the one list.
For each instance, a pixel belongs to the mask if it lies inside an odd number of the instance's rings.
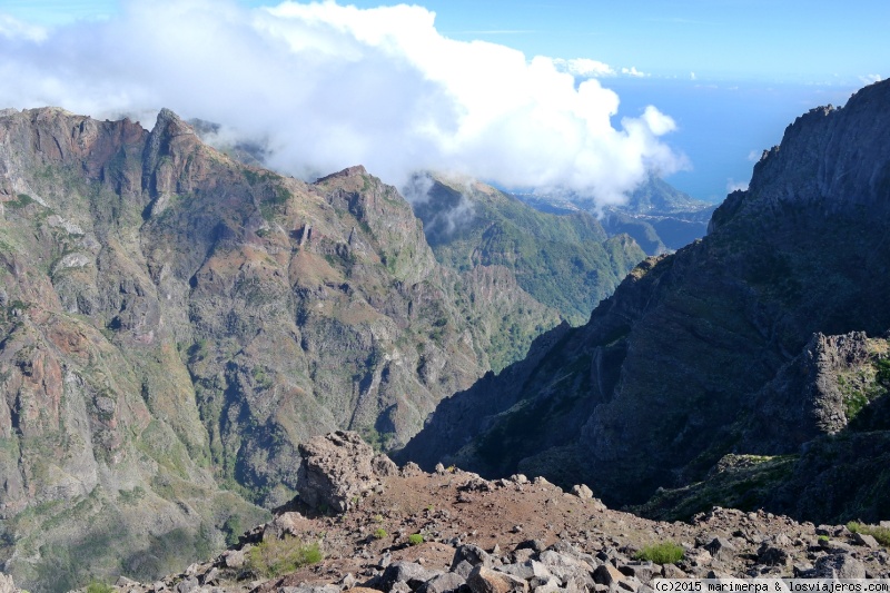
[{"label": "large white cloud bank drifting over the mountain ridges", "polygon": [[654,107],[613,121],[619,97],[596,77],[614,72],[448,39],[433,12],[404,4],[132,0],[46,31],[0,18],[0,107],[141,113],[147,127],[169,107],[266,140],[268,164],[300,177],[363,164],[400,186],[444,170],[601,205],[683,166],[661,140],[674,121]]}]

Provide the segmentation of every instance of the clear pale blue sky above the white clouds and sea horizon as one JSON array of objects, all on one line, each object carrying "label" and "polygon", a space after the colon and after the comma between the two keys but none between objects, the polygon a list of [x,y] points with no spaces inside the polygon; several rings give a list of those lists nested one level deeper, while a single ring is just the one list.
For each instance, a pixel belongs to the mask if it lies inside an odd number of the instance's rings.
[{"label": "clear pale blue sky above the white clouds and sea horizon", "polygon": [[[276,6],[239,0],[244,7]],[[402,2],[343,2],[359,8]],[[859,85],[888,69],[890,2],[857,0],[425,0],[441,33],[527,56],[592,58],[657,77]],[[107,18],[117,0],[0,0],[0,13],[58,24]]]}]

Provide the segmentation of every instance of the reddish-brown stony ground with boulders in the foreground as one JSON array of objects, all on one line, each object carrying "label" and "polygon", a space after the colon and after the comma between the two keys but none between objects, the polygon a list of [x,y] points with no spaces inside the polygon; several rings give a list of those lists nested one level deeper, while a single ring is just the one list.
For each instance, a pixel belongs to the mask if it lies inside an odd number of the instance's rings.
[{"label": "reddish-brown stony ground with boulders in the foreground", "polygon": [[[690,523],[650,521],[606,508],[584,485],[570,493],[541,477],[399,470],[355,433],[316,437],[300,453],[300,501],[211,561],[155,583],[121,577],[117,590],[646,592],[662,576],[890,577],[888,551],[846,526],[719,507]],[[683,557],[641,560],[666,543]],[[284,562],[313,544],[319,562]]]}]

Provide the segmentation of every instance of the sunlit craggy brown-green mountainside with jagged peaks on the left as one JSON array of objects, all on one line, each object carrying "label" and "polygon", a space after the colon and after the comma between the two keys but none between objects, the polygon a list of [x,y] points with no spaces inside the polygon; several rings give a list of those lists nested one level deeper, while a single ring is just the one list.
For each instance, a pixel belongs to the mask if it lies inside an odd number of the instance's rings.
[{"label": "sunlit craggy brown-green mountainside with jagged peaks on the left", "polygon": [[0,560],[41,591],[206,554],[293,496],[299,442],[404,443],[553,323],[362,167],[307,185],[168,110],[0,113]]}]

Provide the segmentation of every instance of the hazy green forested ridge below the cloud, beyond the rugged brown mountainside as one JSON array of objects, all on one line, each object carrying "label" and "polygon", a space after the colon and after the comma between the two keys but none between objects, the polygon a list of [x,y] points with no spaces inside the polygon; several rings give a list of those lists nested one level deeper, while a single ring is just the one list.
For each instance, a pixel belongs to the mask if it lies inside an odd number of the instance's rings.
[{"label": "hazy green forested ridge below the cloud, beyond the rugged brown mountainside", "polygon": [[[541,213],[485,184],[441,175],[417,177],[414,186],[422,189],[412,206],[439,263],[462,271],[504,267],[573,325],[645,257],[630,237],[610,238],[586,213]],[[528,340],[540,333],[525,330]]]}]

